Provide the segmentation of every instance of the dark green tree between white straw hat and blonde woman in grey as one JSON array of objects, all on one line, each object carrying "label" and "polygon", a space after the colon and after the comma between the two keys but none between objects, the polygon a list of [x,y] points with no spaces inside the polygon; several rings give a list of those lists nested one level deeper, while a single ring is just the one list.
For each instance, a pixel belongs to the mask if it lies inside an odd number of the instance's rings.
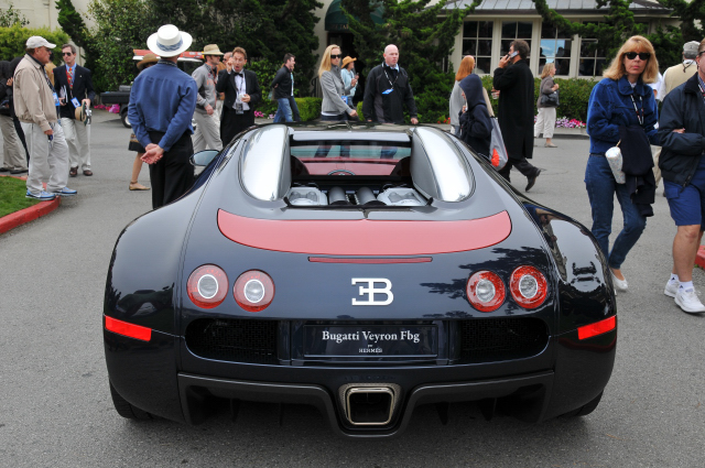
[{"label": "dark green tree between white straw hat and blonde woman in grey", "polygon": [[[243,47],[250,62],[264,59],[283,63],[284,54],[296,56],[300,95],[308,94],[318,48],[314,26],[319,21],[314,10],[317,0],[151,0],[163,24],[172,23],[194,37],[197,50],[218,44],[221,51]],[[203,50],[203,48],[200,48]],[[269,83],[261,83],[268,86]]]}]

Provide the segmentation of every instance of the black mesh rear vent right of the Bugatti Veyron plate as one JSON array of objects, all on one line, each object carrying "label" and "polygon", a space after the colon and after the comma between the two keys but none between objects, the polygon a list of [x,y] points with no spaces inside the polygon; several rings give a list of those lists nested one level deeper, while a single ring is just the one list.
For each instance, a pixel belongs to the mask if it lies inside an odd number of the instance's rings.
[{"label": "black mesh rear vent right of the Bugatti Veyron plate", "polygon": [[534,317],[501,317],[462,320],[460,359],[465,362],[528,358],[549,342],[549,329]]}]

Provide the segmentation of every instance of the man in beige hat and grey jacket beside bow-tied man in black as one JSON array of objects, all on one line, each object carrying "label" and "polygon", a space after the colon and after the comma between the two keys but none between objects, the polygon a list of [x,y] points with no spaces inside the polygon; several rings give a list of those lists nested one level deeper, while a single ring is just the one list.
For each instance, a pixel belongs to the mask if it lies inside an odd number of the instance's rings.
[{"label": "man in beige hat and grey jacket beside bow-tied man in black", "polygon": [[220,118],[216,112],[216,79],[218,77],[218,64],[223,53],[216,44],[208,44],[203,50],[206,63],[191,74],[196,80],[198,95],[196,96],[196,110],[194,120],[196,130],[194,132],[194,153],[205,150],[223,150],[220,142]]}]

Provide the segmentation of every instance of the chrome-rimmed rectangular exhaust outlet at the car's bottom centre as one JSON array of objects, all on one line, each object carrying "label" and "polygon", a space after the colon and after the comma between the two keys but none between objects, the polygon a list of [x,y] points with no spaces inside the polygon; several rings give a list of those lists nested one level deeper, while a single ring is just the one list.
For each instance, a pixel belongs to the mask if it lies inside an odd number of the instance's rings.
[{"label": "chrome-rimmed rectangular exhaust outlet at the car's bottom centre", "polygon": [[401,387],[395,383],[349,383],[340,387],[345,417],[354,426],[386,426],[399,406]]}]

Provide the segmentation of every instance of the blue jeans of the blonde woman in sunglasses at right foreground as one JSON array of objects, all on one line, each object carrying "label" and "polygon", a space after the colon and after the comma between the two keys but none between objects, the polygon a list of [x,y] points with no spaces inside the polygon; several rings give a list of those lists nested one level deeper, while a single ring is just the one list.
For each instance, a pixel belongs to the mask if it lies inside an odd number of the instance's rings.
[{"label": "blue jeans of the blonde woman in sunglasses at right foreground", "polygon": [[[585,187],[593,209],[593,228],[590,230],[603,253],[607,257],[609,266],[618,270],[647,227],[647,218],[641,216],[631,203],[627,185],[618,184],[615,181],[605,156],[590,154],[585,168]],[[621,206],[625,226],[617,236],[610,252],[609,235],[612,231],[615,195]]]}]

